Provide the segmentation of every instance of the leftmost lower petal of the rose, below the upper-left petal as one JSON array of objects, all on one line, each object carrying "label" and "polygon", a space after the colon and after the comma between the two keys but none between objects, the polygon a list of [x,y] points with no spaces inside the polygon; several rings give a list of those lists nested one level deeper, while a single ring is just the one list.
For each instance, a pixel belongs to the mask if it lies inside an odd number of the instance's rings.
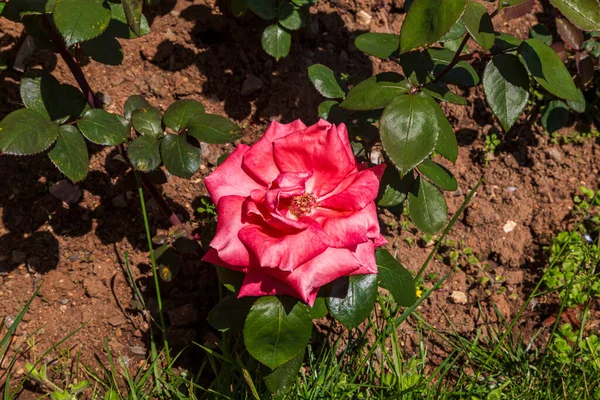
[{"label": "leftmost lower petal of the rose, below the upper-left petal", "polygon": [[[248,267],[250,265],[250,253],[238,238],[240,229],[248,226],[242,215],[242,205],[245,201],[241,196],[221,197],[217,205],[219,222],[217,234],[210,242],[210,247],[217,251],[218,257],[224,263],[236,267]],[[213,262],[214,254],[207,253],[202,260]],[[215,262],[215,264],[217,264]]]}]

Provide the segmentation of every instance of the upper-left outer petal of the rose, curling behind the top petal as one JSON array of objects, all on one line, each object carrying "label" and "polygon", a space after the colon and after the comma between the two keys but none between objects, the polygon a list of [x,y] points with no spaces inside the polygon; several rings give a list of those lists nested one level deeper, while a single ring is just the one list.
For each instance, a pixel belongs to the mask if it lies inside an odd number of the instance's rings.
[{"label": "upper-left outer petal of the rose, curling behind the top petal", "polygon": [[303,129],[306,129],[306,125],[299,119],[289,124],[271,122],[263,137],[244,155],[242,163],[244,171],[257,182],[268,186],[279,175],[279,169],[273,158],[273,141]]}]

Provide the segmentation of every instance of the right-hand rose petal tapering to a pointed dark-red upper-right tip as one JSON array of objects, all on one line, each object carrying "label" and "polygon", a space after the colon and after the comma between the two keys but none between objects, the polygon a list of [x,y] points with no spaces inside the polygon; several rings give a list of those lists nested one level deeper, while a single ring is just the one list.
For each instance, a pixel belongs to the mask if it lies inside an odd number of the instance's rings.
[{"label": "right-hand rose petal tapering to a pointed dark-red upper-right tip", "polygon": [[328,196],[319,199],[320,207],[342,211],[360,211],[373,202],[385,165],[348,175]]}]

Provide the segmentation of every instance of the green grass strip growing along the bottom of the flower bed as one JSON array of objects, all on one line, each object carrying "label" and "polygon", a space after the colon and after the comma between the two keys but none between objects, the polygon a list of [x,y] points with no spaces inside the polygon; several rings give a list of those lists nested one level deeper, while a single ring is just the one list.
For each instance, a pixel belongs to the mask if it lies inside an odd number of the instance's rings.
[{"label": "green grass strip growing along the bottom of the flower bed", "polygon": [[[498,310],[490,313],[489,308],[479,305],[481,321],[468,336],[457,333],[450,318],[448,330],[431,325],[421,316],[418,306],[439,289],[449,272],[436,276],[433,286],[410,308],[402,309],[390,296],[379,294],[377,312],[359,328],[348,331],[338,325],[321,326],[320,333],[314,334],[305,349],[304,359],[298,360],[302,361],[302,367],[295,380],[286,385],[287,391],[274,396],[267,382],[277,377],[270,376],[271,371],[244,350],[241,336],[225,332],[216,343],[193,344],[200,346],[206,356],[198,360],[192,371],[182,372],[174,368],[178,355],[171,356],[164,348],[159,351],[163,345],[168,346],[168,342],[157,339],[162,337],[158,334],[162,326],[157,321],[151,328],[150,356],[135,375],[130,374],[125,359],[112,354],[106,346],[106,363],[98,358],[100,367],[93,369],[78,362],[79,376],[62,379],[60,384],[47,378],[42,371],[45,367],[39,361],[28,368],[29,374],[18,382],[11,379],[11,368],[8,368],[0,375],[0,382],[6,382],[3,399],[18,398],[27,381],[40,384],[46,393],[40,394],[41,397],[58,400],[598,399],[600,339],[585,327],[591,304],[598,297],[595,283],[598,282],[596,265],[600,261],[597,258],[600,254],[600,224],[597,222],[600,220],[593,211],[597,208],[597,193],[592,196],[584,191],[584,196],[587,196],[586,205],[575,208],[577,220],[572,230],[558,233],[549,244],[549,265],[511,321],[504,320]],[[449,228],[439,238],[419,276],[445,240]],[[125,266],[130,274],[127,257]],[[130,284],[138,302],[145,307],[133,279]],[[523,337],[516,329],[517,323],[523,320],[530,303],[541,296],[554,299],[559,305],[556,316],[579,306],[584,328],[579,329],[558,317]],[[0,339],[2,358],[34,297]],[[415,331],[413,338],[417,338],[410,349],[405,344],[406,337],[398,334],[402,332],[398,328],[406,324],[410,324],[410,329]],[[48,352],[58,349],[67,339]],[[437,364],[432,357],[434,350],[438,355],[445,354]],[[19,354],[13,356],[9,367]],[[44,357],[37,358],[42,359]],[[77,393],[82,382],[87,382],[84,397]]]}]

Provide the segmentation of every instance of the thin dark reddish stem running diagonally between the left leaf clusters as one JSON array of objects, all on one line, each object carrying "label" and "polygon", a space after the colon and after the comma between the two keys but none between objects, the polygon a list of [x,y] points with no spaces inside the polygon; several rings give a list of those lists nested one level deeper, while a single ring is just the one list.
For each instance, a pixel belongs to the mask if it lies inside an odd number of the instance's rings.
[{"label": "thin dark reddish stem running diagonally between the left leaf clusters", "polygon": [[[94,92],[92,91],[90,84],[88,83],[87,79],[85,78],[85,75],[83,74],[83,71],[81,70],[81,67],[79,66],[77,61],[75,61],[75,59],[73,58],[73,55],[69,52],[69,49],[67,48],[67,46],[65,46],[64,40],[60,36],[60,33],[58,33],[56,31],[56,29],[54,29],[54,27],[50,23],[50,20],[48,19],[48,16],[44,15],[41,18],[41,21],[42,21],[42,26],[43,26],[44,30],[48,34],[55,49],[58,51],[58,53],[60,54],[62,59],[65,61],[65,64],[67,64],[67,67],[69,67],[71,74],[77,81],[77,84],[79,85],[79,87],[81,88],[81,91],[85,95],[90,107],[100,108],[100,105],[97,103],[96,98],[94,97]],[[123,148],[123,145],[119,145],[117,147],[117,149],[119,150],[119,153],[121,154],[121,156],[123,156],[123,158],[126,158],[126,152],[125,152],[125,149]],[[142,175],[142,174],[140,174],[140,179],[142,182],[142,186],[148,191],[150,196],[156,201],[158,207],[163,212],[163,214],[165,214],[165,216],[167,218],[169,218],[169,222],[171,223],[171,225],[185,229],[188,239],[194,240],[190,231],[188,231],[187,228],[185,227],[185,225],[183,225],[183,222],[181,222],[179,217],[173,212],[173,210],[169,206],[169,203],[167,203],[166,200],[160,194],[160,192],[158,190],[156,190],[156,188],[154,187],[152,182],[150,182],[150,180],[145,175]],[[198,246],[197,253],[199,255],[203,255],[202,246]]]}]

